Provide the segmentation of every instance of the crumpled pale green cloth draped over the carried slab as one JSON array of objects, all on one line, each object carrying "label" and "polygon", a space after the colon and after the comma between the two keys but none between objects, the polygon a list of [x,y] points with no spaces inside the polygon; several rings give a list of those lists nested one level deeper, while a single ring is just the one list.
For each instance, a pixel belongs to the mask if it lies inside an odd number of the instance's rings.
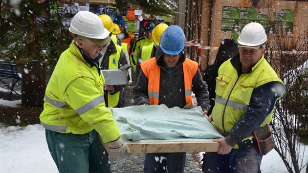
[{"label": "crumpled pale green cloth draped over the carried slab", "polygon": [[123,141],[212,141],[222,135],[202,115],[200,107],[165,105],[110,108]]}]

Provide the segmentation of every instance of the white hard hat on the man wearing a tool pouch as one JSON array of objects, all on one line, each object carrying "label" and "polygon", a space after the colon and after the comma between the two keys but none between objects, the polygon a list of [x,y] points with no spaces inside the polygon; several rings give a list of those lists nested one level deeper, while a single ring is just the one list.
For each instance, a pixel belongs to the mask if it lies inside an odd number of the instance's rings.
[{"label": "white hard hat on the man wearing a tool pouch", "polygon": [[246,24],[238,37],[238,47],[258,47],[267,41],[264,27],[257,22]]}]

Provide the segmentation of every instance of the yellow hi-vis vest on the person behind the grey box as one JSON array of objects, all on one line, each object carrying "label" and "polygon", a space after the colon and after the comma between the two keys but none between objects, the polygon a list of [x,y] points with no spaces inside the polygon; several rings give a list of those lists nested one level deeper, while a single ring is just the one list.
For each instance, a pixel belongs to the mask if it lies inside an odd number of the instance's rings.
[{"label": "yellow hi-vis vest on the person behind the grey box", "polygon": [[[116,53],[113,53],[109,56],[109,65],[108,69],[118,69],[119,68],[119,60],[121,56],[122,46],[115,44]],[[114,94],[108,93],[108,108],[113,108],[118,105],[120,98],[120,91]]]}]

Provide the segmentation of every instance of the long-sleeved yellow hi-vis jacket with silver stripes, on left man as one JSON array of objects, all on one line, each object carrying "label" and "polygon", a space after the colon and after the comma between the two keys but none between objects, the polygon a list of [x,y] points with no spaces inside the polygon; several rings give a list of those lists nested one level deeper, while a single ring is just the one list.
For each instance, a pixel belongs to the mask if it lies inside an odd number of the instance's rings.
[{"label": "long-sleeved yellow hi-vis jacket with silver stripes, on left man", "polygon": [[73,134],[95,129],[104,142],[120,137],[113,116],[105,107],[105,80],[100,70],[84,60],[75,43],[70,44],[61,54],[46,87],[40,115],[44,128]]}]

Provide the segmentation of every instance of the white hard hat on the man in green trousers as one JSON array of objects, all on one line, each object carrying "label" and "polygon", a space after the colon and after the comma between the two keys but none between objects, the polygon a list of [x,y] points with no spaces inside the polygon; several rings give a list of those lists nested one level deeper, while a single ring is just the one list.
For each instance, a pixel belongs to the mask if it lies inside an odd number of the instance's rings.
[{"label": "white hard hat on the man in green trousers", "polygon": [[92,39],[105,39],[109,36],[109,31],[104,27],[102,20],[88,11],[78,12],[70,22],[68,30],[73,34]]}]

